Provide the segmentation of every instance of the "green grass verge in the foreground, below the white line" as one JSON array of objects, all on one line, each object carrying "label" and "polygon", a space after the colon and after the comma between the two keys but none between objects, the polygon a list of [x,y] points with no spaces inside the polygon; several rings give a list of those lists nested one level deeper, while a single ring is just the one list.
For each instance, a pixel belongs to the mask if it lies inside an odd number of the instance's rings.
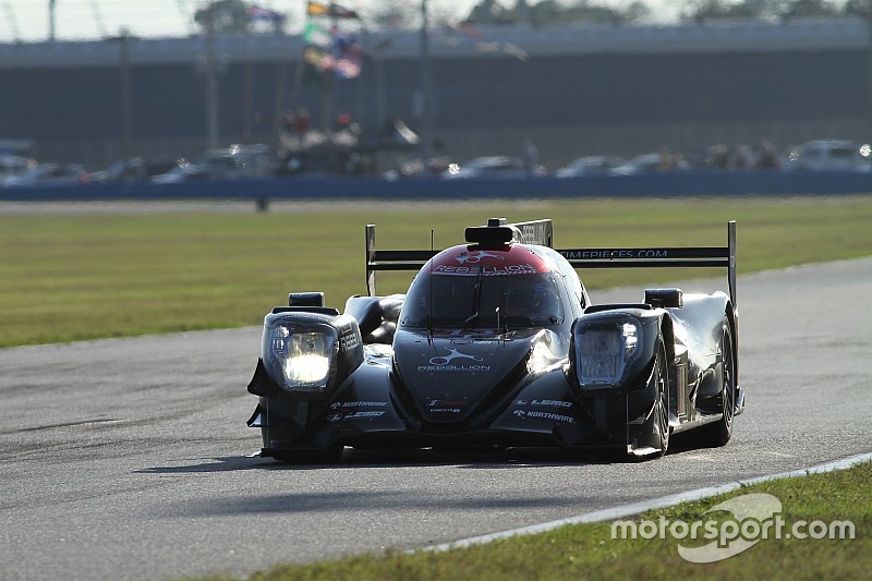
[{"label": "green grass verge in the foreground, below the white line", "polygon": [[[671,523],[705,521],[705,511],[727,498],[765,493],[782,503],[784,531],[799,521],[849,520],[855,538],[770,538],[712,564],[682,559],[686,546],[667,533],[659,540],[613,538],[611,523],[566,525],[443,553],[358,555],[310,565],[279,565],[250,577],[257,581],[315,580],[579,580],[579,579],[868,579],[872,568],[872,462],[848,470],[743,486],[726,495],[646,512],[641,519]],[[719,515],[724,515],[723,512]],[[632,520],[632,519],[630,519]],[[724,520],[718,519],[720,522]],[[808,530],[806,525],[803,530]],[[774,530],[774,529],[773,529]],[[211,577],[208,579],[225,579]]]}]

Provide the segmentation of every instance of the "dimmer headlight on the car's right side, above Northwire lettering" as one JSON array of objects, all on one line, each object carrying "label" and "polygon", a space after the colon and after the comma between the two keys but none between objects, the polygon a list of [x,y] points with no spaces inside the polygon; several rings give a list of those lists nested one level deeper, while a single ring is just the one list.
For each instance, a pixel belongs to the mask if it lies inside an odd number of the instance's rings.
[{"label": "dimmer headlight on the car's right side, above Northwire lettering", "polygon": [[631,320],[581,329],[576,352],[581,385],[615,385],[639,350],[640,326]]}]

